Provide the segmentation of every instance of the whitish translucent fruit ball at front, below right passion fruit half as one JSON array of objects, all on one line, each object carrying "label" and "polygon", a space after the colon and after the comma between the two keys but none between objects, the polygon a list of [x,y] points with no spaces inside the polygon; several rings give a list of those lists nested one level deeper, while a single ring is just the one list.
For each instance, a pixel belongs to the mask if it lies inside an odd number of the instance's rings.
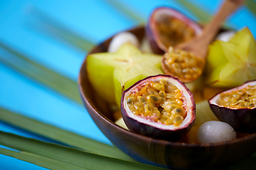
[{"label": "whitish translucent fruit ball at front, below right passion fruit half", "polygon": [[208,121],[199,127],[196,137],[200,143],[215,143],[235,140],[237,135],[228,123]]}]

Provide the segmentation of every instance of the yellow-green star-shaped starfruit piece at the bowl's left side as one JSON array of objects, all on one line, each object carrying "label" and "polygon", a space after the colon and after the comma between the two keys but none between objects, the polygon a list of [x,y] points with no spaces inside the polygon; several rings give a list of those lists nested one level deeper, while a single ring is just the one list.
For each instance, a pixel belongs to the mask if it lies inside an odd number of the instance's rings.
[{"label": "yellow-green star-shaped starfruit piece at the bowl's left side", "polygon": [[161,55],[143,53],[130,43],[117,52],[87,56],[87,75],[93,88],[105,101],[120,106],[122,91],[140,79],[163,74]]}]

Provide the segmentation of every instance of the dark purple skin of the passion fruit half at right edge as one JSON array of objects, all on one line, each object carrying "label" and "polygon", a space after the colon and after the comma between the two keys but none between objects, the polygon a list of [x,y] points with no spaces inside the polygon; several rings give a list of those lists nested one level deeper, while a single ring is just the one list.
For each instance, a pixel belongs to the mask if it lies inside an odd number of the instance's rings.
[{"label": "dark purple skin of the passion fruit half at right edge", "polygon": [[238,132],[256,132],[256,108],[231,109],[210,103],[210,109],[216,117],[231,125]]}]

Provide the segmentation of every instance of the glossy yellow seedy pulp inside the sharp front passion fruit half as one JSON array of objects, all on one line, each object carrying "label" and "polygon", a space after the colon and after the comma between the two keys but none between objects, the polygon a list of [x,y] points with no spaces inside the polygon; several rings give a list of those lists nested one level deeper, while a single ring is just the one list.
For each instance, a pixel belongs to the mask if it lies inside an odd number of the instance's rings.
[{"label": "glossy yellow seedy pulp inside the sharp front passion fruit half", "polygon": [[186,118],[185,98],[174,84],[161,79],[143,84],[139,91],[127,96],[127,104],[134,115],[164,125],[180,125]]}]

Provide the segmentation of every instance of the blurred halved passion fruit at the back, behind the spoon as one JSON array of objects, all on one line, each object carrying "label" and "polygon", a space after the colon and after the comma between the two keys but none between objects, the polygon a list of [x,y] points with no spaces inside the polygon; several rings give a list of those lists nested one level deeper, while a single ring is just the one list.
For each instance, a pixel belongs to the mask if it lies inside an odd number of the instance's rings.
[{"label": "blurred halved passion fruit at the back, behind the spoon", "polygon": [[170,46],[191,40],[202,28],[173,8],[156,8],[146,25],[146,35],[154,53],[164,54]]}]

